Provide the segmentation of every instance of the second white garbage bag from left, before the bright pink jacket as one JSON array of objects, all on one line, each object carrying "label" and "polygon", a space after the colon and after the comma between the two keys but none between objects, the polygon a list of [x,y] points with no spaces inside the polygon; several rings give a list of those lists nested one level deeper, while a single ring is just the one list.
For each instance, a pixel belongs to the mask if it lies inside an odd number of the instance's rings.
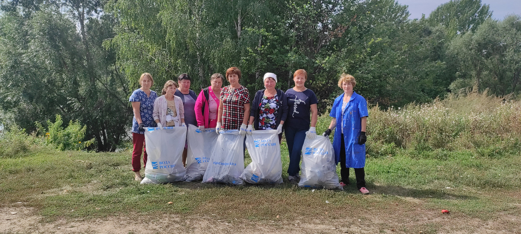
[{"label": "second white garbage bag from left, before the bright pink jacket", "polygon": [[201,180],[206,172],[212,150],[217,142],[215,128],[205,128],[188,125],[188,154],[187,154],[187,180],[188,182]]}]

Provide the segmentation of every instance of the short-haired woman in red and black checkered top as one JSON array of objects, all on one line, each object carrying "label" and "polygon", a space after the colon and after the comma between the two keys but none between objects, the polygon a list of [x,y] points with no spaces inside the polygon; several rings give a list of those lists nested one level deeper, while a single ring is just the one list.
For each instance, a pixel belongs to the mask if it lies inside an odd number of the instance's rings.
[{"label": "short-haired woman in red and black checkered top", "polygon": [[219,112],[217,114],[217,126],[219,130],[239,130],[241,135],[246,134],[246,123],[250,116],[250,93],[241,84],[241,70],[236,67],[226,70],[226,79],[230,85],[222,88]]}]

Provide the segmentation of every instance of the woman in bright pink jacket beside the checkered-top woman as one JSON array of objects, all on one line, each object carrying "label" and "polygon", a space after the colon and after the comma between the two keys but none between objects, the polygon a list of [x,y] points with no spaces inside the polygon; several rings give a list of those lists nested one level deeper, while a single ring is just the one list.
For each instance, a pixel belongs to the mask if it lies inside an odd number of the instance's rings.
[{"label": "woman in bright pink jacket beside the checkered-top woman", "polygon": [[210,86],[201,90],[195,101],[195,119],[199,129],[213,128],[217,125],[219,97],[224,76],[215,73],[210,77]]}]

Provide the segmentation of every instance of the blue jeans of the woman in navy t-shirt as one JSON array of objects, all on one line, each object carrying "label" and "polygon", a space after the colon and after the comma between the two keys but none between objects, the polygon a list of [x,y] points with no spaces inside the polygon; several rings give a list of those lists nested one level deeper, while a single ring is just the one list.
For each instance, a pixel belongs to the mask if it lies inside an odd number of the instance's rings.
[{"label": "blue jeans of the woman in navy t-shirt", "polygon": [[290,153],[290,165],[288,166],[288,175],[297,176],[300,172],[300,156],[302,154],[302,145],[306,139],[308,129],[299,129],[290,126],[284,127],[286,133],[286,142],[288,143],[288,152]]}]

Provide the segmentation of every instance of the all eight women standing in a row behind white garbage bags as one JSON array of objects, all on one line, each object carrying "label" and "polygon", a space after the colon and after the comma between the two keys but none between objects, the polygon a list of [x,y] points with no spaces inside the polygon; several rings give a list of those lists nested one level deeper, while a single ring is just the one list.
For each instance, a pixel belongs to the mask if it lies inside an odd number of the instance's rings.
[{"label": "all eight women standing in a row behind white garbage bags", "polygon": [[[210,86],[201,90],[199,96],[190,89],[188,74],[181,74],[178,83],[167,81],[162,96],[150,89],[154,84],[152,75],[143,73],[141,88],[134,90],[129,101],[132,102],[134,119],[132,122],[133,152],[132,168],[135,179],[141,180],[141,154],[146,165],[144,127],[187,126],[192,124],[200,129],[237,129],[239,133],[251,134],[253,131],[277,130],[279,142],[282,132],[286,134],[290,164],[288,179],[290,183],[300,180],[300,160],[305,138],[316,138],[317,97],[305,87],[307,72],[296,70],[293,74],[294,87],[283,92],[275,88],[277,75],[264,75],[265,89],[258,90],[250,101],[248,89],[240,84],[241,70],[229,68],[226,76],[215,73],[210,77]],[[224,79],[230,85],[222,87]],[[353,167],[356,186],[364,194],[365,188],[365,141],[367,123],[367,102],[353,91],[356,81],[352,75],[342,74],[338,86],[344,91],[334,100],[330,116],[333,117],[327,131],[329,136],[333,127],[333,147],[336,161],[341,163],[341,185],[349,184],[349,168]],[[221,88],[222,87],[222,88]],[[183,152],[186,163],[187,145]]]}]

